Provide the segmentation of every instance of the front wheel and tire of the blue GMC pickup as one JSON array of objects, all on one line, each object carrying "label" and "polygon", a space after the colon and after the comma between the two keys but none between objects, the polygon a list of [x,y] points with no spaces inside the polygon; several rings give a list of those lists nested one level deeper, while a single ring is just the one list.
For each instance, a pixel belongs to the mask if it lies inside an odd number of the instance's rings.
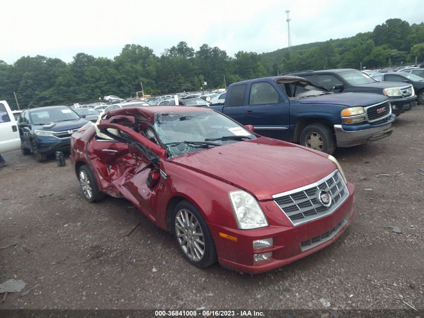
[{"label": "front wheel and tire of the blue GMC pickup", "polygon": [[302,146],[333,154],[336,150],[336,139],[330,127],[322,124],[306,126],[301,133]]}]

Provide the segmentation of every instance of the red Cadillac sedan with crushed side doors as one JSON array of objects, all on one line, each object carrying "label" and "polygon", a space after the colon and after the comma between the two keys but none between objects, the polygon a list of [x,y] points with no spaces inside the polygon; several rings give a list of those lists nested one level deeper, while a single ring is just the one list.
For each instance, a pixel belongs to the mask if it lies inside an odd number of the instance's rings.
[{"label": "red Cadillac sedan with crushed side doors", "polygon": [[261,137],[210,109],[124,108],[72,135],[90,202],[124,197],[194,266],[268,271],[334,242],[355,186],[325,153]]}]

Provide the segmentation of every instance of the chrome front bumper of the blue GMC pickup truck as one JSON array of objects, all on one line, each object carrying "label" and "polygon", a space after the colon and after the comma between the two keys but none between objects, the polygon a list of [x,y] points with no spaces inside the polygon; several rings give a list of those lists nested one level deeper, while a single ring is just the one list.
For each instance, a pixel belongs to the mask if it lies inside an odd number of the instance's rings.
[{"label": "chrome front bumper of the blue GMC pickup truck", "polygon": [[388,137],[393,132],[391,124],[395,119],[396,116],[392,114],[387,121],[381,124],[334,125],[337,147],[357,146]]}]

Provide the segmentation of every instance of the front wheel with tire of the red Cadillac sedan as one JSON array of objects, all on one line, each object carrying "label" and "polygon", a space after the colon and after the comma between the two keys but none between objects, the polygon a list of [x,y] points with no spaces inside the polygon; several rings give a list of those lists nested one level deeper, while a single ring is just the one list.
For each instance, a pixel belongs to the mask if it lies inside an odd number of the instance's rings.
[{"label": "front wheel with tire of the red Cadillac sedan", "polygon": [[174,208],[174,234],[183,257],[196,267],[216,262],[217,254],[212,234],[197,208],[181,201]]}]

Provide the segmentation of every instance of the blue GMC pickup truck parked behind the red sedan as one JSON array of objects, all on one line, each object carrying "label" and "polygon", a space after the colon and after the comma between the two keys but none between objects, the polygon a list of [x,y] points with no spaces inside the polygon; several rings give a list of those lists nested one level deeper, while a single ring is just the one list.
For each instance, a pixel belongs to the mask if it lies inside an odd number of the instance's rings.
[{"label": "blue GMC pickup truck parked behind the red sedan", "polygon": [[335,94],[299,76],[236,82],[224,105],[211,108],[259,135],[299,143],[332,154],[392,133],[396,116],[387,97],[373,93]]}]

